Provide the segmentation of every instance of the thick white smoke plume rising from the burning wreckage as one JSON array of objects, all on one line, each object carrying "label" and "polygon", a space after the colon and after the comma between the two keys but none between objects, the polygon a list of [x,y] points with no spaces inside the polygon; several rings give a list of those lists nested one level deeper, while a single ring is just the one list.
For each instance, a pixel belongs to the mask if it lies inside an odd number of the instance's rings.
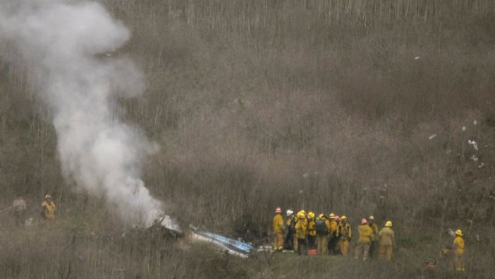
[{"label": "thick white smoke plume rising from the burning wreckage", "polygon": [[[116,97],[145,89],[129,59],[106,57],[129,30],[94,1],[1,1],[0,42],[27,61],[30,81],[54,110],[66,179],[104,196],[124,220],[150,225],[164,215],[140,179],[140,160],[156,149],[114,117]],[[169,218],[164,225],[175,227]]]}]

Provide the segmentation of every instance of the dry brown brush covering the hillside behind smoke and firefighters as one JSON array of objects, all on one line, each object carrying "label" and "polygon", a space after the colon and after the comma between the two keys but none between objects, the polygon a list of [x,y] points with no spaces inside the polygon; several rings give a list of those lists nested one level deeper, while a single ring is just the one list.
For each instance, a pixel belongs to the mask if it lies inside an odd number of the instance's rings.
[{"label": "dry brown brush covering the hillside behind smoke and firefighters", "polygon": [[[143,178],[181,224],[263,239],[276,206],[352,221],[374,214],[394,221],[417,261],[436,256],[446,227],[462,227],[470,275],[494,273],[494,1],[104,3],[133,30],[115,55],[138,61],[148,82],[116,114],[161,146]],[[63,180],[51,112],[17,62],[0,60],[1,200],[23,194],[37,216],[51,193],[60,223],[50,235],[2,218],[0,277],[284,274],[257,273],[267,265],[255,259],[252,269],[233,260],[241,273],[209,274],[202,248],[164,244],[156,256],[142,242],[101,240],[123,227],[104,201]],[[224,270],[220,258],[212,266]],[[395,273],[374,272],[420,275],[400,261]],[[371,267],[362,268],[353,275]]]}]

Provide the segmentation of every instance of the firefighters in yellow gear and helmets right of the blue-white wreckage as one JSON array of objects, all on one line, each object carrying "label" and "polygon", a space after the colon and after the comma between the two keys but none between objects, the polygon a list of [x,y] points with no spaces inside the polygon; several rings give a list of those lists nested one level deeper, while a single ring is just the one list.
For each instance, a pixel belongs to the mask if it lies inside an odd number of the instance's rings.
[{"label": "firefighters in yellow gear and helmets right of the blue-white wreckage", "polygon": [[[289,209],[286,211],[286,220],[283,220],[281,208],[276,208],[275,213],[274,251],[292,250],[301,255],[303,250],[316,250],[316,254],[319,255],[348,256],[353,232],[346,215],[340,217],[334,213],[322,213],[316,216],[313,212],[306,213],[305,210],[294,214],[293,210]],[[378,248],[379,259],[392,260],[394,234],[391,220],[387,220],[385,226],[379,230],[374,216],[369,216],[368,220],[362,218],[357,232],[359,237],[355,246],[355,259],[362,257],[363,261],[367,261],[370,256],[376,254]],[[456,271],[464,271],[464,240],[461,230],[456,231],[452,254]]]}]

